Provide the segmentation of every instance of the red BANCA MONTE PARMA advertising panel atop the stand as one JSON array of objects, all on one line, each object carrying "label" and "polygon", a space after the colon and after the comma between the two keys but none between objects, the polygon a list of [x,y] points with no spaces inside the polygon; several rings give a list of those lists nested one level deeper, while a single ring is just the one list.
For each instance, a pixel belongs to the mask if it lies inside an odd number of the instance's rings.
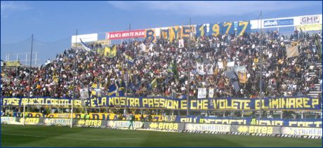
[{"label": "red BANCA MONTE PARMA advertising panel atop the stand", "polygon": [[131,30],[129,31],[121,31],[121,32],[107,32],[105,39],[128,39],[130,34],[130,38],[137,37],[145,37],[145,29]]}]

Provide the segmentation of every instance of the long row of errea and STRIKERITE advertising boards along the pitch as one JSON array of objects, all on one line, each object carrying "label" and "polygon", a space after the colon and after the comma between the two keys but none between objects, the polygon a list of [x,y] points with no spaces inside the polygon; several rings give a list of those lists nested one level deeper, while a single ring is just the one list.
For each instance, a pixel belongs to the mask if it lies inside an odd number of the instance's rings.
[{"label": "long row of errea and STRIKERITE advertising boards along the pitch", "polygon": [[[22,125],[23,118],[1,116],[1,123]],[[70,126],[71,119],[25,118],[26,125]],[[128,128],[128,121],[106,121],[93,119],[74,119],[74,127]],[[246,126],[235,124],[209,123],[171,123],[135,121],[134,128],[166,130],[180,133],[213,133],[233,135],[258,135],[271,137],[303,137],[322,139],[322,128],[287,127],[287,126]]]}]

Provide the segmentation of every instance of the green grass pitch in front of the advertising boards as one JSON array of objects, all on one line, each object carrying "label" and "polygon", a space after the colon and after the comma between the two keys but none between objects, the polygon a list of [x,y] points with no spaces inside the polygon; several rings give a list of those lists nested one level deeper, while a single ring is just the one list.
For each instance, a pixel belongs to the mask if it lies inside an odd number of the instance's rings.
[{"label": "green grass pitch in front of the advertising boards", "polygon": [[1,147],[322,147],[322,140],[1,124]]}]

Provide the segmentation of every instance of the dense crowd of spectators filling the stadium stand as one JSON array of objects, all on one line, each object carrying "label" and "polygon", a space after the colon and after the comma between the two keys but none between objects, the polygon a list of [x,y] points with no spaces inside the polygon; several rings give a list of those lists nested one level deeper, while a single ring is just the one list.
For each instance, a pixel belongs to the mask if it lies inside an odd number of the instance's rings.
[{"label": "dense crowd of spectators filling the stadium stand", "polygon": [[[315,90],[315,84],[322,77],[321,67],[313,66],[320,62],[315,36],[322,43],[321,34],[295,32],[284,36],[279,32],[264,33],[264,96],[306,95]],[[299,55],[287,58],[286,48],[294,42],[298,42]],[[122,42],[112,45],[117,46],[114,58],[100,55],[98,50],[104,48],[100,45],[92,53],[82,48],[70,48],[41,67],[1,69],[6,78],[1,79],[1,96],[72,97],[75,92],[79,98],[80,88],[88,88],[90,95],[107,95],[109,86],[116,81],[127,83],[128,80],[127,92],[131,96],[183,98],[187,96],[187,83],[190,83],[190,98],[197,98],[198,88],[214,88],[213,97],[258,97],[261,34],[198,37],[190,41],[191,48],[188,43],[185,40],[184,47],[178,48],[178,40],[157,39],[152,44],[135,40]],[[147,48],[144,49],[143,44]],[[125,60],[125,54],[134,59],[133,64]],[[174,61],[178,76],[169,70]],[[197,62],[204,63],[206,74],[197,73]],[[223,68],[218,62],[223,62]],[[232,86],[232,80],[227,76],[226,71],[230,70],[226,65],[228,62],[246,67],[247,81],[239,83],[239,90]],[[208,73],[208,65],[213,65],[211,74]],[[315,75],[310,72],[315,72]],[[157,87],[152,87],[156,78]],[[91,93],[93,83],[101,84],[100,93]]]}]

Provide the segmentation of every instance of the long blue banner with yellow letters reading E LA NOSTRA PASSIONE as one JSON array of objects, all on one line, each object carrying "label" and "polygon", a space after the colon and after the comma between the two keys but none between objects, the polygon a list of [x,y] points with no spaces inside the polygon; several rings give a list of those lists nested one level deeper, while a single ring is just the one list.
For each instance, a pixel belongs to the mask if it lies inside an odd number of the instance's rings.
[{"label": "long blue banner with yellow letters reading E LA NOSTRA PASSIONE", "polygon": [[[209,98],[182,100],[171,97],[119,97],[103,96],[84,100],[86,107],[134,107],[146,109],[187,109],[191,110],[320,110],[321,101],[316,97],[265,97],[258,98]],[[1,105],[21,106],[24,103],[67,104],[70,98],[51,97],[1,97]],[[262,103],[261,103],[262,102]],[[75,106],[81,106],[81,100],[74,100]],[[262,105],[262,107],[260,106]]]}]

